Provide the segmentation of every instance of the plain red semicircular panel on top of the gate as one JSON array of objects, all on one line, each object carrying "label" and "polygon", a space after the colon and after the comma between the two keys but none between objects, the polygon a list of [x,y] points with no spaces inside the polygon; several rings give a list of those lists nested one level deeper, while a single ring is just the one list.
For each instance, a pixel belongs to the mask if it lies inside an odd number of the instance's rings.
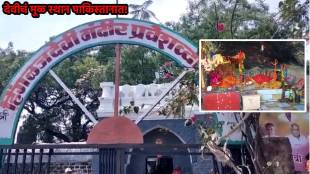
[{"label": "plain red semicircular panel on top of the gate", "polygon": [[140,128],[126,117],[101,120],[91,130],[87,144],[143,144]]}]

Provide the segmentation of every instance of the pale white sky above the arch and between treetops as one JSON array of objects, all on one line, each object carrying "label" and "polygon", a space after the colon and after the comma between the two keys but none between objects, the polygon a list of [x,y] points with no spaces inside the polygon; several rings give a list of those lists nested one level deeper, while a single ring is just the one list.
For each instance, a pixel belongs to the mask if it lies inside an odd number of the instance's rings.
[{"label": "pale white sky above the arch and between treetops", "polygon": [[[48,0],[50,3],[68,3],[66,0]],[[83,0],[70,0],[70,3],[81,3]],[[119,3],[142,4],[145,0],[119,0]],[[255,1],[255,0],[250,0]],[[14,2],[14,0],[9,0]],[[24,0],[20,0],[21,3]],[[30,4],[46,3],[42,0],[28,0]],[[115,3],[115,0],[91,0],[92,3]],[[279,0],[265,0],[269,5],[270,11],[277,11]],[[1,2],[2,6],[3,1]],[[167,21],[178,21],[182,14],[187,11],[188,0],[154,0],[150,10],[155,12],[157,18],[165,23]],[[5,15],[0,12],[0,47],[6,48],[8,42],[12,41],[14,48],[17,50],[36,51],[51,36],[58,35],[70,28],[80,24],[115,17],[113,15],[41,15],[40,18],[34,19],[31,15],[14,16]],[[124,17],[124,16],[122,16]],[[130,18],[131,16],[126,16]],[[156,22],[156,21],[154,21]]]}]

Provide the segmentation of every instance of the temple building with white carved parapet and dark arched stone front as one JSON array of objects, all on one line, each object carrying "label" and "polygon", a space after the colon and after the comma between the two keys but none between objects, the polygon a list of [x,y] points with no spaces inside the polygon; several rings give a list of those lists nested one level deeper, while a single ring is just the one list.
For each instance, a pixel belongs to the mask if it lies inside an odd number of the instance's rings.
[{"label": "temple building with white carved parapet and dark arched stone front", "polygon": [[[113,82],[102,82],[102,95],[99,98],[100,106],[97,114],[101,119],[113,115],[114,103],[114,84]],[[166,84],[149,85],[123,85],[120,86],[120,109],[130,105],[138,107],[138,112],[122,114],[133,122],[144,112],[146,112],[158,99],[158,97],[170,86]],[[158,109],[165,105],[166,100],[172,96],[167,95],[152,112],[138,123],[144,144],[200,144],[200,135],[195,127],[186,127],[184,122],[186,117],[196,115],[197,117],[206,114],[199,113],[198,106],[186,106],[185,118],[166,117],[158,114]],[[209,114],[212,115],[212,114]],[[220,118],[217,116],[217,118]],[[220,121],[220,120],[218,120]],[[226,122],[227,123],[227,122]],[[225,126],[223,126],[225,129]],[[223,130],[225,131],[225,130]],[[235,135],[236,139],[240,135]],[[191,152],[191,149],[188,149]],[[211,173],[214,167],[214,161],[211,157],[202,158],[200,155],[172,155],[167,157],[173,166],[181,166],[183,173],[205,174]],[[156,160],[156,156],[131,155],[127,158],[127,174],[146,174],[148,167]]]}]

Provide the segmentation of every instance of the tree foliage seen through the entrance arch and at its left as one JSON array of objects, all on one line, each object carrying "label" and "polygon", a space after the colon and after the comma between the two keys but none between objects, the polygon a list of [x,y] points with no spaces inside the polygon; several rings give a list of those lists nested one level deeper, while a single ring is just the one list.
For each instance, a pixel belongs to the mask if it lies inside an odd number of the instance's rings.
[{"label": "tree foliage seen through the entrance arch and at its left", "polygon": [[[16,53],[12,46],[0,50],[3,69],[1,90],[30,55],[21,51]],[[114,55],[113,45],[96,47],[75,54],[53,68],[94,116],[101,95],[100,82],[114,80]],[[122,45],[121,55],[122,84],[152,83],[154,73],[165,60],[157,52],[138,46]],[[25,121],[18,134],[18,143],[85,140],[92,126],[81,109],[49,75],[35,87],[24,109]],[[131,109],[137,112],[138,108]]]}]

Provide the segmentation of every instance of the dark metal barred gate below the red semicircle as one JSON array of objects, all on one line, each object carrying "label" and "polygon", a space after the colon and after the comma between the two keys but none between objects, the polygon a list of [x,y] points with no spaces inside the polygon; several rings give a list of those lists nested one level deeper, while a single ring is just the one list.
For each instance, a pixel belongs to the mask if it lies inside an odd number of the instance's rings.
[{"label": "dark metal barred gate below the red semicircle", "polygon": [[[66,149],[66,150],[65,150]],[[190,149],[190,151],[188,151]],[[1,145],[1,174],[50,174],[53,172],[53,157],[71,156],[81,158],[91,156],[99,164],[96,169],[86,173],[125,174],[126,163],[132,155],[201,155],[199,144],[155,145],[155,144],[43,144],[43,145]],[[76,151],[78,150],[78,151]],[[218,171],[217,162],[212,154],[205,154],[213,159],[214,170]],[[57,172],[56,172],[57,173]],[[60,172],[63,173],[63,172]],[[83,172],[82,172],[83,173]],[[129,173],[127,173],[129,174]]]}]

